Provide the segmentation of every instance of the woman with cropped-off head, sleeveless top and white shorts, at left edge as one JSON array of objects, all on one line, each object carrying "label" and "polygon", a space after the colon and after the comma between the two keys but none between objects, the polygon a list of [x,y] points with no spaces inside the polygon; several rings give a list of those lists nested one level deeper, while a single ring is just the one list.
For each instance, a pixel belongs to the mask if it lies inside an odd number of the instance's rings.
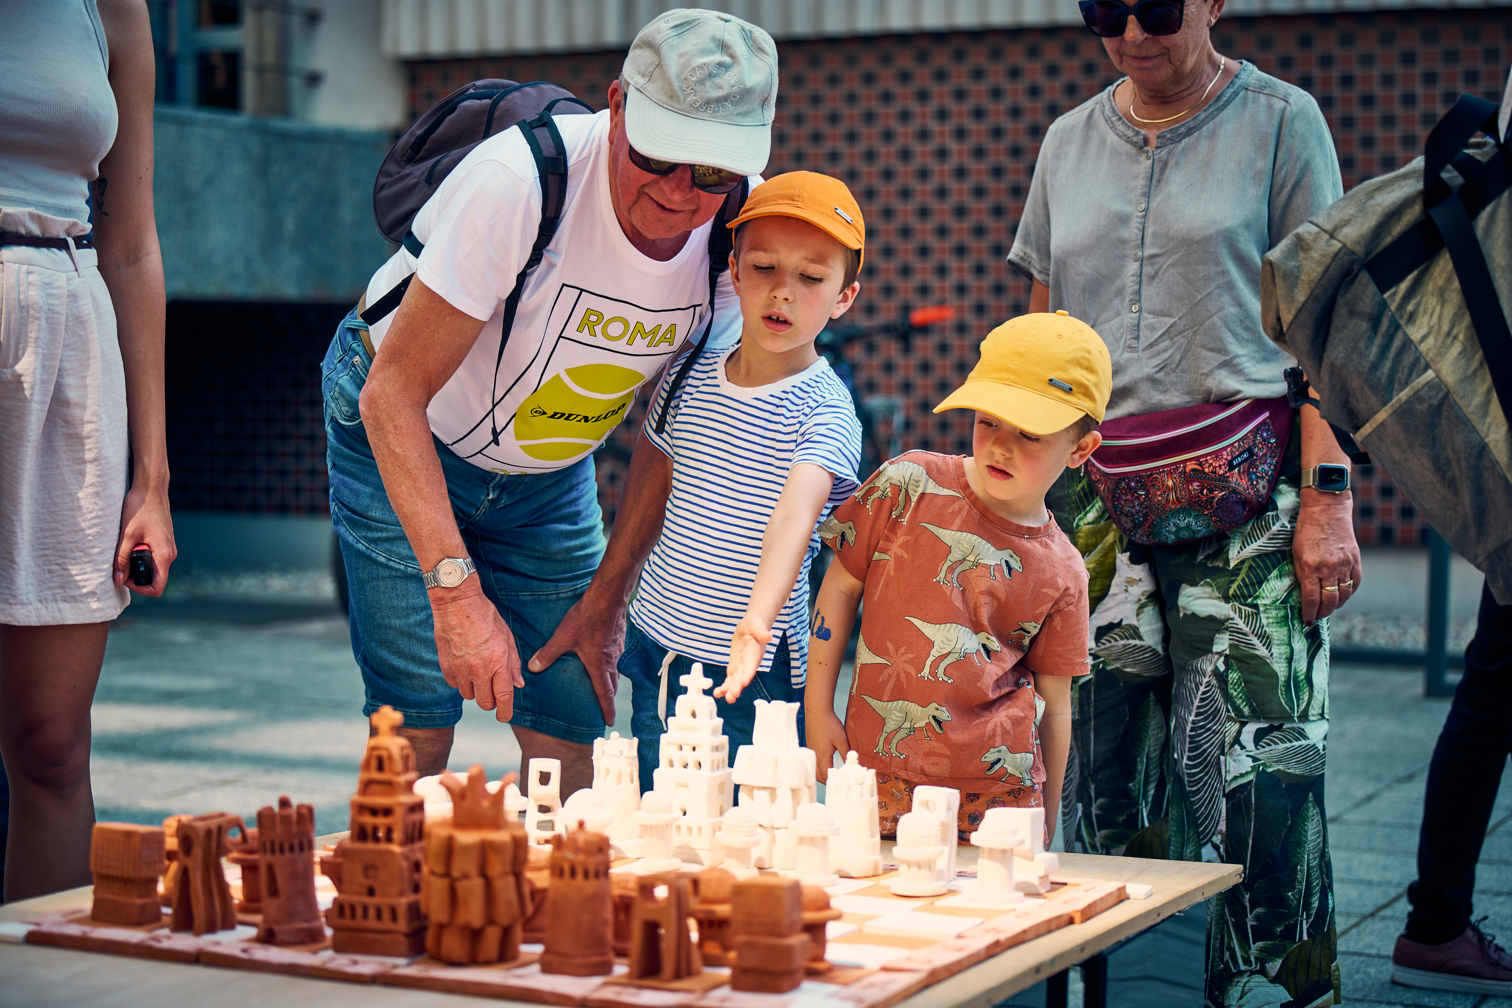
[{"label": "woman with cropped-off head, sleeveless top and white shorts, at left edge", "polygon": [[[147,6],[0,6],[0,754],[12,901],[89,883],[89,707],[106,632],[127,591],[162,594],[175,550]],[[156,574],[135,586],[127,565],[142,544]]]}]

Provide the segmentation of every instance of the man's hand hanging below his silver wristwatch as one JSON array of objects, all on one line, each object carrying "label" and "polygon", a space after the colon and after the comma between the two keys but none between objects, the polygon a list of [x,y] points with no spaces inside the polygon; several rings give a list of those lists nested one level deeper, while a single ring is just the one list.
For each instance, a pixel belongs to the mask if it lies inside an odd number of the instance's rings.
[{"label": "man's hand hanging below his silver wristwatch", "polygon": [[523,686],[514,635],[476,579],[458,588],[431,589],[435,621],[435,653],[442,676],[463,700],[476,700],[484,710],[497,710],[499,721],[514,715],[514,688]]}]

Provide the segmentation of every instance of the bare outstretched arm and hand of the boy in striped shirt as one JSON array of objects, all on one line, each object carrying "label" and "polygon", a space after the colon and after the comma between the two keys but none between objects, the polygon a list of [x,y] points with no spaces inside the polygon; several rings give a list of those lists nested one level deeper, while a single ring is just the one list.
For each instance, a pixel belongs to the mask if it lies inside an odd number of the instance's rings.
[{"label": "bare outstretched arm and hand of the boy in striped shirt", "polygon": [[835,475],[823,465],[795,462],[788,470],[788,481],[761,538],[756,583],[745,603],[745,615],[735,624],[729,668],[724,683],[714,689],[715,697],[733,701],[756,677],[761,657],[771,644],[771,621],[782,612],[798,580],[813,526],[833,487]]}]

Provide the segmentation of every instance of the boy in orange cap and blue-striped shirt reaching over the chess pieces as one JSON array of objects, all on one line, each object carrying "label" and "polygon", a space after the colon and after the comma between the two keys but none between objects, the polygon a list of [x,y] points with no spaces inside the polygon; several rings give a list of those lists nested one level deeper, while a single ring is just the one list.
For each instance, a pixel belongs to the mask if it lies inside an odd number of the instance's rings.
[{"label": "boy in orange cap and blue-striped shirt reaching over the chess pieces", "polygon": [[[689,685],[724,680],[715,695],[730,701],[718,707],[730,751],[751,741],[754,700],[801,698],[815,529],[857,484],[860,423],[813,340],[860,290],[860,207],[836,178],[789,172],[753,189],[730,227],[741,342],[702,355],[676,388],[664,382],[646,423],[671,494],[618,665],[643,789]],[[691,677],[692,662],[708,682]]]}]

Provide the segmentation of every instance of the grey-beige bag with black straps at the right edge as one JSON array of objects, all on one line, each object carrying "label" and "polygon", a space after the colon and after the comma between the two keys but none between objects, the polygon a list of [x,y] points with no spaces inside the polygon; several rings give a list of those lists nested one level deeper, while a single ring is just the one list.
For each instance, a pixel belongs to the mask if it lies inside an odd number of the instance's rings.
[{"label": "grey-beige bag with black straps at the right edge", "polygon": [[[1489,139],[1471,141],[1476,130]],[[1424,157],[1350,190],[1261,267],[1266,334],[1512,603],[1512,156],[1462,95]]]}]

